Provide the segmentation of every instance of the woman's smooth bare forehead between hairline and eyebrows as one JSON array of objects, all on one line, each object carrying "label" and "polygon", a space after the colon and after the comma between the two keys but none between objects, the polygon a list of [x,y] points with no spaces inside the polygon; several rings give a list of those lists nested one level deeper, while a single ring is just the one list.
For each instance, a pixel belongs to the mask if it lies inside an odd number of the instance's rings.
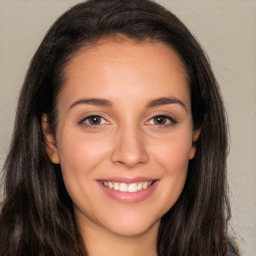
[{"label": "woman's smooth bare forehead between hairline and eyebrows", "polygon": [[64,77],[61,93],[68,94],[69,98],[72,94],[116,97],[122,96],[123,90],[126,94],[144,95],[143,98],[152,97],[150,93],[162,97],[178,90],[190,100],[181,59],[170,46],[161,42],[124,37],[101,39],[78,50],[67,64]]}]

